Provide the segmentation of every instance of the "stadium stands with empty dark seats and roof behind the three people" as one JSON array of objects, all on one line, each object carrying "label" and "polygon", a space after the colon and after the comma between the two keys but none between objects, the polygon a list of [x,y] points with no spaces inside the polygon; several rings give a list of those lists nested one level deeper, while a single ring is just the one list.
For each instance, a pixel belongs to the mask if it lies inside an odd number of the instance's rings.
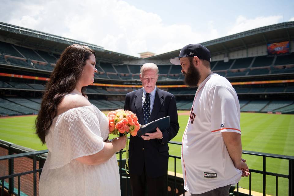
[{"label": "stadium stands with empty dark seats and roof behind the three people", "polygon": [[[141,87],[140,66],[146,62],[158,65],[157,86],[175,95],[178,109],[190,110],[196,89],[186,87],[181,67],[169,62],[180,49],[143,59],[0,22],[0,115],[36,114],[59,55],[74,43],[96,52],[98,72],[86,93],[101,110],[123,108],[125,94]],[[201,44],[211,51],[212,71],[236,89],[241,111],[294,113],[294,22]]]}]

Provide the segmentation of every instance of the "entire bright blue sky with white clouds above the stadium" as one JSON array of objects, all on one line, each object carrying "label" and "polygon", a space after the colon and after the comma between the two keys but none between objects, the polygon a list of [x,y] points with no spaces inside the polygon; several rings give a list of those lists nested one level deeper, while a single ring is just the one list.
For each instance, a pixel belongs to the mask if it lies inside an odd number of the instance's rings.
[{"label": "entire bright blue sky with white clouds above the stadium", "polygon": [[128,55],[294,21],[294,1],[0,0],[0,21]]}]

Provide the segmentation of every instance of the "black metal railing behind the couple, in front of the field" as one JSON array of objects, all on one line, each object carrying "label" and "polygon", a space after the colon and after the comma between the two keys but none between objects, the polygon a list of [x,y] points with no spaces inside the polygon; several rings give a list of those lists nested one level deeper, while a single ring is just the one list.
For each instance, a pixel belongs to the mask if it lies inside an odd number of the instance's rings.
[{"label": "black metal railing behind the couple, in front of the field", "polygon": [[[180,142],[168,142],[171,145],[181,145]],[[40,159],[40,155],[47,153],[48,150],[41,150],[41,151],[36,151],[36,152],[29,152],[29,153],[21,153],[21,154],[13,154],[13,155],[6,155],[6,156],[0,156],[0,164],[1,161],[8,160],[8,171],[9,175],[4,175],[0,176],[0,183],[1,183],[1,195],[4,195],[4,189],[8,191],[8,194],[14,194],[17,196],[21,195],[21,176],[27,175],[27,174],[33,174],[33,195],[37,195],[37,173],[39,172],[39,176],[42,171],[43,165],[41,164],[41,161],[39,161],[39,168],[37,169],[37,160]],[[120,172],[120,183],[123,195],[129,195],[129,176],[126,174],[126,171],[124,169],[124,164],[123,164],[123,158],[122,158],[122,153],[125,151],[121,151],[119,153],[119,172]],[[252,155],[252,156],[261,156],[262,157],[262,170],[255,170],[255,169],[250,169],[250,173],[259,173],[262,174],[262,194],[265,196],[266,195],[266,176],[275,176],[276,177],[276,195],[278,195],[278,178],[286,178],[288,179],[288,195],[293,196],[294,195],[294,156],[285,156],[285,155],[277,155],[277,154],[269,154],[269,153],[259,153],[259,152],[253,152],[253,151],[243,151],[243,154],[247,155]],[[21,173],[13,173],[13,167],[14,167],[14,159],[16,158],[21,158],[21,157],[29,157],[33,159],[33,170],[32,171],[25,171]],[[170,155],[170,158],[174,159],[174,184],[173,184],[173,190],[170,191],[169,195],[171,195],[171,192],[173,192],[173,195],[177,195],[177,189],[183,191],[183,195],[185,195],[185,190],[184,187],[177,186],[176,184],[176,179],[178,178],[176,176],[176,160],[181,159],[180,156],[174,156]],[[284,159],[288,160],[288,175],[285,174],[279,174],[279,173],[274,173],[274,172],[269,172],[266,171],[266,158],[276,158],[276,159]],[[17,193],[14,191],[14,184],[13,184],[13,178],[17,177],[18,178],[18,188],[17,188]],[[8,186],[5,186],[5,180],[9,179]],[[123,185],[123,181],[126,180],[125,186]],[[251,183],[252,183],[252,177],[251,175],[249,176],[249,195],[251,195]],[[239,183],[236,186],[236,195],[239,195]]]}]

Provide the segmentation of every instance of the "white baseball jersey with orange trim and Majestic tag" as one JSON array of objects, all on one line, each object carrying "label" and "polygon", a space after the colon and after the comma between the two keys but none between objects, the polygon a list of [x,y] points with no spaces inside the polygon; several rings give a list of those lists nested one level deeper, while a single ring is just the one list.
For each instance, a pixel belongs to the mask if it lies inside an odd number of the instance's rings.
[{"label": "white baseball jersey with orange trim and Majestic tag", "polygon": [[236,184],[242,171],[235,168],[222,132],[240,130],[240,105],[230,82],[210,74],[198,87],[182,140],[185,189],[193,194]]}]

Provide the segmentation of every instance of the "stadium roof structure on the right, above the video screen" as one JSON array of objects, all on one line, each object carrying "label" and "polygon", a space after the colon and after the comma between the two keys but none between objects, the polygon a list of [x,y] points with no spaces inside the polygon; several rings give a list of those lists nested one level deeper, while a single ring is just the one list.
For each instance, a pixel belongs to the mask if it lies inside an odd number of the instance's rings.
[{"label": "stadium roof structure on the right, above the video screen", "polygon": [[[202,42],[200,44],[209,49],[211,56],[215,56],[247,49],[249,47],[260,46],[262,44],[290,40],[294,40],[294,21],[255,28],[215,40]],[[157,60],[177,57],[179,56],[180,50],[181,49],[145,59]]]}]

